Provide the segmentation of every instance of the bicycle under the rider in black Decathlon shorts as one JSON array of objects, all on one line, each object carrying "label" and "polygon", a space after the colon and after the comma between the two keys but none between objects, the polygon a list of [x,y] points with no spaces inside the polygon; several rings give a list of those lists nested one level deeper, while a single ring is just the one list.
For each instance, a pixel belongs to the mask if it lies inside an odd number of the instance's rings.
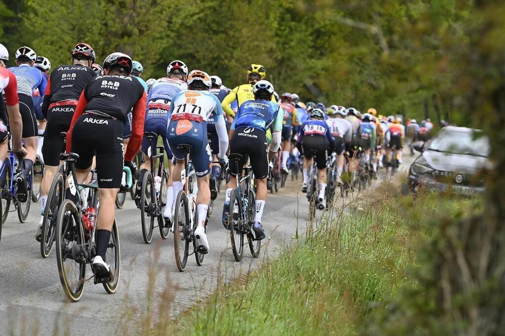
[{"label": "bicycle under the rider in black Decathlon shorts", "polygon": [[[261,250],[261,239],[255,239],[252,235],[252,223],[255,215],[256,192],[254,188],[254,176],[250,165],[239,169],[238,162],[242,155],[230,154],[230,163],[236,164],[237,187],[233,188],[230,196],[230,215],[228,216],[228,230],[230,231],[230,241],[233,257],[236,261],[242,260],[244,253],[244,236],[247,237],[247,244],[253,258],[258,258]],[[230,221],[231,219],[231,221]]]}]

